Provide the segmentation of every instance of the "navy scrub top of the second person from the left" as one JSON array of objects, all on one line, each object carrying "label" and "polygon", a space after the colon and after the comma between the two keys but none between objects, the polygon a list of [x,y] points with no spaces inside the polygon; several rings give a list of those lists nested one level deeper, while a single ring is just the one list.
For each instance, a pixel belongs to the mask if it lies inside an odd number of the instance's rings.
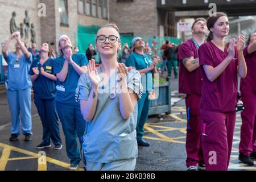
[{"label": "navy scrub top of the second person from the left", "polygon": [[[38,68],[41,72],[41,68],[44,68],[44,71],[53,75],[53,62],[54,59],[49,58],[43,65],[40,64],[40,57],[36,57],[30,67],[30,75],[35,75],[32,68]],[[45,99],[45,100],[54,100],[56,95],[56,81],[51,80],[43,75],[39,75],[36,78],[34,85],[34,96]]]}]

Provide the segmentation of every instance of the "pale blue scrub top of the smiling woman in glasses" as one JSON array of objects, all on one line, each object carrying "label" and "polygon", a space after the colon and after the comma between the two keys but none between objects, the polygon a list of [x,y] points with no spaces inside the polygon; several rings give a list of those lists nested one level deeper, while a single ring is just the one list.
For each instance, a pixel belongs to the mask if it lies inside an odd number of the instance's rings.
[{"label": "pale blue scrub top of the smiling woman in glasses", "polygon": [[[100,68],[97,68],[101,73]],[[117,74],[109,79],[117,85]],[[112,81],[110,81],[112,80]],[[114,80],[114,81],[113,81]],[[113,84],[114,85],[114,84]],[[88,73],[84,73],[79,80],[76,94],[78,100],[88,100],[91,90],[91,82]],[[127,87],[141,98],[142,84],[141,75],[132,69],[127,76]],[[93,163],[110,163],[115,160],[135,159],[138,157],[138,146],[136,139],[137,104],[128,119],[123,119],[119,109],[119,97],[112,100],[109,93],[102,93],[113,88],[99,85],[96,113],[91,122],[87,123],[85,140],[82,144],[86,161]],[[106,90],[105,90],[106,89]],[[101,92],[101,93],[100,93]]]}]

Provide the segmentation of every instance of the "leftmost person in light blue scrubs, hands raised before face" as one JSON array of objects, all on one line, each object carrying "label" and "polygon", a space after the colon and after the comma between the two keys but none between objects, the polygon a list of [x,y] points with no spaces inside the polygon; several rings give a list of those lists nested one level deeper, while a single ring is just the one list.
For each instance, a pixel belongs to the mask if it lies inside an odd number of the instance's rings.
[{"label": "leftmost person in light blue scrubs, hands raised before face", "polygon": [[[16,39],[16,51],[8,52],[11,40]],[[8,64],[8,80],[6,81],[7,100],[11,111],[11,138],[10,141],[18,140],[19,118],[22,122],[22,134],[25,140],[32,139],[31,122],[31,87],[32,82],[28,71],[32,63],[32,54],[27,51],[24,43],[20,40],[20,32],[14,32],[6,41],[2,49],[3,56]]]}]

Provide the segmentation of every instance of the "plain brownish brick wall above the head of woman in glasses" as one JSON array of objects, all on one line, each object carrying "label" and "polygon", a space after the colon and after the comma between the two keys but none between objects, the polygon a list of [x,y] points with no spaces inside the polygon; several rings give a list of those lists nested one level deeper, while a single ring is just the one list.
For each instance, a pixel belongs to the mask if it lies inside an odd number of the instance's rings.
[{"label": "plain brownish brick wall above the head of woman in glasses", "polygon": [[134,36],[156,34],[156,0],[133,2],[109,1],[110,22],[117,23],[121,33],[133,32]]}]

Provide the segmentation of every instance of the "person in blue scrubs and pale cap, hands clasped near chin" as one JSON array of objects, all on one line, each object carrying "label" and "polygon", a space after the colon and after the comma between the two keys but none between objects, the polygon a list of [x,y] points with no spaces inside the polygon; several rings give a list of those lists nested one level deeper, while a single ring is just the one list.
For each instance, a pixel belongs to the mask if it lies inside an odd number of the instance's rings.
[{"label": "person in blue scrubs and pale cap, hands clasped near chin", "polygon": [[[88,59],[84,54],[72,53],[71,40],[67,35],[61,35],[58,40],[61,56],[53,64],[53,73],[57,76],[57,95],[55,97],[57,113],[65,135],[65,144],[69,169],[75,170],[81,160],[80,145],[85,133],[86,122],[82,117],[80,102],[75,101],[77,82],[80,76],[87,71]],[[85,158],[84,158],[84,164]]]}]

